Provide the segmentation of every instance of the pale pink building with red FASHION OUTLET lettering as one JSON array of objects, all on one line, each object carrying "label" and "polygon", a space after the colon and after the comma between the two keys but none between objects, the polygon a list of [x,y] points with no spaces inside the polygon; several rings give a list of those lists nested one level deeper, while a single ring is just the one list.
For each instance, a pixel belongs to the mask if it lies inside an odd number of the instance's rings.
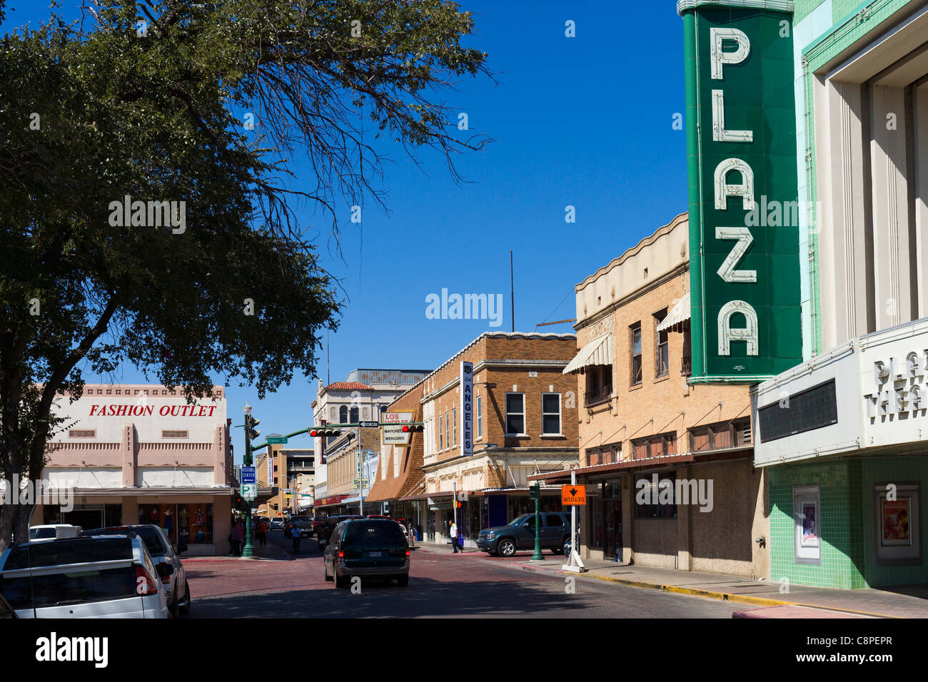
[{"label": "pale pink building with red FASHION OUTLET lettering", "polygon": [[183,389],[86,384],[58,415],[43,479],[72,490],[73,508],[39,505],[32,524],[84,529],[154,523],[187,543],[186,555],[225,555],[231,527],[232,447],[225,389],[187,403]]}]

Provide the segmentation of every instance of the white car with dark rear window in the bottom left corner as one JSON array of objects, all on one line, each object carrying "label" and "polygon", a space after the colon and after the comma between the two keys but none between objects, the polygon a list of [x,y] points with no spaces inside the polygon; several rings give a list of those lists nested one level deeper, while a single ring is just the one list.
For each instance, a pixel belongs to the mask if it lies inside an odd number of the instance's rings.
[{"label": "white car with dark rear window in the bottom left corner", "polygon": [[160,577],[135,533],[20,543],[0,555],[0,593],[19,618],[170,618]]}]

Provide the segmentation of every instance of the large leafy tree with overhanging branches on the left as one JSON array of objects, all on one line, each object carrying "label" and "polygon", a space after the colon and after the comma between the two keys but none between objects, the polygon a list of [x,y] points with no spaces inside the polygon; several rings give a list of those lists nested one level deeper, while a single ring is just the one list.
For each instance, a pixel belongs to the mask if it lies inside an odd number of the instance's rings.
[{"label": "large leafy tree with overhanging branches on the left", "polygon": [[[298,369],[315,376],[318,332],[342,302],[294,203],[314,203],[337,239],[342,202],[382,200],[362,116],[414,159],[437,149],[456,177],[452,155],[488,141],[459,138],[436,100],[487,73],[460,44],[473,24],[452,3],[116,0],[88,12],[7,33],[0,49],[7,486],[39,479],[68,417],[56,401],[81,395],[84,371],[132,363],[191,400],[215,374],[262,396]],[[292,187],[301,153],[307,189]],[[0,550],[28,535],[29,512],[0,507]]]}]

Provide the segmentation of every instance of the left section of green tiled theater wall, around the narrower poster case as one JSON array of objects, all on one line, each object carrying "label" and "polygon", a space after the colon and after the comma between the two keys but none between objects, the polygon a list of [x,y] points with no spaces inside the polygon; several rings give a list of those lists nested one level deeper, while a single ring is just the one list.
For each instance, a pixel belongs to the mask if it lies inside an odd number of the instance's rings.
[{"label": "left section of green tiled theater wall, around the narrower poster case", "polygon": [[[769,471],[770,580],[789,578],[797,585],[854,589],[863,577],[860,460],[834,459],[781,464]],[[821,563],[796,563],[793,547],[793,487],[818,485],[821,492]],[[852,529],[857,529],[852,532]]]}]

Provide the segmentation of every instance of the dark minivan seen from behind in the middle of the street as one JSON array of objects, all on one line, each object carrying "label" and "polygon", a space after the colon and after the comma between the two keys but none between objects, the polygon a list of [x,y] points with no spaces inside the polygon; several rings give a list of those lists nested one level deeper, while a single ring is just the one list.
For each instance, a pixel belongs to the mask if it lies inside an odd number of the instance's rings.
[{"label": "dark minivan seen from behind in the middle of the street", "polygon": [[361,578],[395,580],[409,584],[409,545],[396,521],[354,519],[342,521],[332,532],[322,555],[326,580],[346,587],[357,575]]}]

